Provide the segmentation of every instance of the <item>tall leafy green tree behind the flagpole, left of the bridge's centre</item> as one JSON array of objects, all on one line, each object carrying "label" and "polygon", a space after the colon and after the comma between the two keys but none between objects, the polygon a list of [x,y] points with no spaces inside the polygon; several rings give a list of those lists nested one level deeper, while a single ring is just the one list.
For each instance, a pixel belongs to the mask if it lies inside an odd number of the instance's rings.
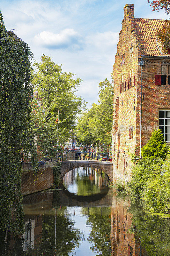
[{"label": "tall leafy green tree behind the flagpole, left of the bridge's centre", "polygon": [[59,110],[59,126],[68,138],[78,114],[85,106],[82,98],[75,95],[82,80],[75,79],[72,73],[62,73],[61,65],[45,55],[41,56],[40,63],[35,61],[34,66],[33,85],[42,98],[46,115],[48,119],[56,119]]}]

